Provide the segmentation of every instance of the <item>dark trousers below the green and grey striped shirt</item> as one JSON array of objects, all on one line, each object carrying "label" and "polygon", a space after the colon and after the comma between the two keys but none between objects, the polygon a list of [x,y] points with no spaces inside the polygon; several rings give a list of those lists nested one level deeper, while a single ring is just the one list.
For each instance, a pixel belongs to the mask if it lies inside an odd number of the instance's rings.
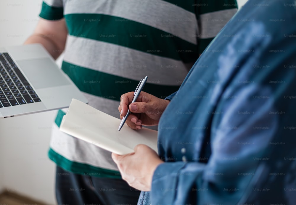
[{"label": "dark trousers below the green and grey striped shirt", "polygon": [[140,191],[130,187],[122,179],[77,175],[57,166],[58,204],[133,205],[137,204],[139,194]]}]

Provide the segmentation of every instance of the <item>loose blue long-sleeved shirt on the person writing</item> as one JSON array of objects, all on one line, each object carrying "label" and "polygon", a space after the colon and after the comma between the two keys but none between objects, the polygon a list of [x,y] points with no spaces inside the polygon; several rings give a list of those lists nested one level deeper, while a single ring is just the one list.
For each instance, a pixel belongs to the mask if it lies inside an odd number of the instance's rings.
[{"label": "loose blue long-sleeved shirt on the person writing", "polygon": [[295,22],[293,0],[250,0],[221,30],[170,96],[139,204],[296,204]]}]

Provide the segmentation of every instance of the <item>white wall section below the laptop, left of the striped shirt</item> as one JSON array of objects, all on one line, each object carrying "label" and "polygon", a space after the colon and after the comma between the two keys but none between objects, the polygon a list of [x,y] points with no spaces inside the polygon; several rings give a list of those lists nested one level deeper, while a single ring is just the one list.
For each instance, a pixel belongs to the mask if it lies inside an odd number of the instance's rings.
[{"label": "white wall section below the laptop, left of the striped shirt", "polygon": [[54,163],[47,157],[55,113],[1,119],[2,184],[6,190],[55,204]]}]

